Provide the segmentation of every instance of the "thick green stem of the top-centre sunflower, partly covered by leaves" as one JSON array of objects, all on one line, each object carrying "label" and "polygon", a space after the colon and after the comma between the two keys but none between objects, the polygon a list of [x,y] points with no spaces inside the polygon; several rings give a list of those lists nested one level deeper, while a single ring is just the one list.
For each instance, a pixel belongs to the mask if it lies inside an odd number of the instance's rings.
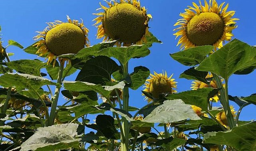
[{"label": "thick green stem of the top-centre sunflower, partly covered by leaves", "polygon": [[[128,63],[123,64],[123,78],[128,76]],[[123,88],[123,110],[129,112],[129,87],[125,86]],[[122,118],[122,128],[124,137],[121,136],[121,151],[128,151],[129,150],[129,122]]]}]

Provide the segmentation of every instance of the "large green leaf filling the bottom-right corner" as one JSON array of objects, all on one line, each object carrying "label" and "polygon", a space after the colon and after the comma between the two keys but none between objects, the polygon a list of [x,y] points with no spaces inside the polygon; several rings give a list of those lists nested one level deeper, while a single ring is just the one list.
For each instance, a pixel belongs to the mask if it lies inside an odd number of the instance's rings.
[{"label": "large green leaf filling the bottom-right corner", "polygon": [[256,150],[256,122],[236,126],[226,132],[208,132],[204,143],[230,145],[238,151]]}]

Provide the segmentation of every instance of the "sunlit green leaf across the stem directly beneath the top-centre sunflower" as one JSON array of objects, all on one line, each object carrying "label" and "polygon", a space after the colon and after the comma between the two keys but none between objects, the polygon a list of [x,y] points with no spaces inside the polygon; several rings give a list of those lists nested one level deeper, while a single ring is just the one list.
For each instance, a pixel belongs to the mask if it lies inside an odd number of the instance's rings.
[{"label": "sunlit green leaf across the stem directly beneath the top-centre sunflower", "polygon": [[141,58],[149,55],[147,45],[132,45],[129,47],[108,47],[99,52],[99,55],[114,57],[122,64],[126,64],[131,58]]}]

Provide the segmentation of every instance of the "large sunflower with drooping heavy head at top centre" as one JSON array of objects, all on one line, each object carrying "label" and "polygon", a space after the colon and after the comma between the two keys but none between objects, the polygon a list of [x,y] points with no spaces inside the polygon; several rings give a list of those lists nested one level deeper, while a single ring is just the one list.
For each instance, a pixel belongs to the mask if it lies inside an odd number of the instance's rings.
[{"label": "large sunflower with drooping heavy head at top centre", "polygon": [[[107,2],[107,1],[105,1]],[[107,2],[109,8],[101,5],[104,12],[94,15],[99,17],[93,19],[97,25],[97,38],[104,37],[103,41],[117,40],[116,45],[130,46],[141,45],[147,42],[146,35],[149,35],[148,21],[152,16],[147,14],[145,7],[141,7],[137,0],[111,0]]]}]

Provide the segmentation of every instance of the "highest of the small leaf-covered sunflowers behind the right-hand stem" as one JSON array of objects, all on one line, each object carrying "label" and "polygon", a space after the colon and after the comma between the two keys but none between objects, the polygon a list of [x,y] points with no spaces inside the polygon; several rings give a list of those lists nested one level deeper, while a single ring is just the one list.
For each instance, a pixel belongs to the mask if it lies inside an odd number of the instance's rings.
[{"label": "highest of the small leaf-covered sunflowers behind the right-hand stem", "polygon": [[[207,79],[207,78],[211,78],[211,77],[213,77],[212,74],[208,73],[205,78]],[[221,79],[221,81],[224,81],[224,79]],[[191,85],[192,85],[192,87],[191,87],[192,90],[196,90],[196,89],[200,89],[200,88],[204,88],[204,87],[212,87],[212,88],[216,88],[216,89],[218,88],[218,85],[217,85],[215,79],[212,79],[210,81],[209,85],[202,81],[198,81],[198,80],[193,81]],[[223,84],[223,87],[225,87],[225,84]],[[220,95],[219,93],[217,95],[214,95],[214,97],[210,98],[210,101],[218,102],[219,95]]]}]

